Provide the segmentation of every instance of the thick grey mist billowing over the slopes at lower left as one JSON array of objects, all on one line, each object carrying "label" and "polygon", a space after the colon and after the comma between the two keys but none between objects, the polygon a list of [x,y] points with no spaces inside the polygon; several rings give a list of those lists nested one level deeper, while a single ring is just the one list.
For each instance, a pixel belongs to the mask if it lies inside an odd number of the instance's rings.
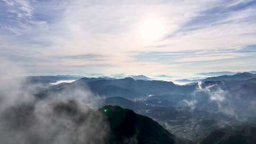
[{"label": "thick grey mist billowing over the slopes at lower left", "polygon": [[[5,144],[104,144],[106,118],[97,110],[104,98],[86,87],[69,87],[38,100],[40,85],[16,78],[25,72],[6,60],[0,64],[0,140]],[[39,87],[39,88],[38,88]],[[67,108],[67,109],[66,109]],[[70,109],[68,109],[70,108]],[[69,111],[71,110],[71,111]],[[97,133],[97,135],[95,135]]]}]

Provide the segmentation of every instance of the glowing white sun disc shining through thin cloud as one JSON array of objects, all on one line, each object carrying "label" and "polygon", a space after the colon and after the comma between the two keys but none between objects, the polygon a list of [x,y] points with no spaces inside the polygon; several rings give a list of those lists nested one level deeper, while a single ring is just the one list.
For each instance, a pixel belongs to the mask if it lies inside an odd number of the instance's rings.
[{"label": "glowing white sun disc shining through thin cloud", "polygon": [[160,18],[146,18],[138,23],[138,35],[144,41],[156,41],[165,35],[165,26]]}]

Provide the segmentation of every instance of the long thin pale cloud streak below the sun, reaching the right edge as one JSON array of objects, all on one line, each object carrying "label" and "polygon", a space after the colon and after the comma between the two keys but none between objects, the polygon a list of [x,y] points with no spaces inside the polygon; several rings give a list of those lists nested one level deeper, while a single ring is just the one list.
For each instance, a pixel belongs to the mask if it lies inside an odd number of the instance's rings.
[{"label": "long thin pale cloud streak below the sun, reaching the right edge", "polygon": [[255,45],[237,49],[221,50],[191,50],[191,51],[150,51],[138,52],[133,57],[137,61],[158,63],[191,63],[201,61],[216,61],[223,59],[234,59],[255,55]]}]

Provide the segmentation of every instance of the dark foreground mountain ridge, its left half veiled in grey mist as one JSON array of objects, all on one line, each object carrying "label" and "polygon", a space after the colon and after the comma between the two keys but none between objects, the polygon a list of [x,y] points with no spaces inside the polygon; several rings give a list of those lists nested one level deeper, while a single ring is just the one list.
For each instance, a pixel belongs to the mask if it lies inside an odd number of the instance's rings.
[{"label": "dark foreground mountain ridge, its left half veiled in grey mist", "polygon": [[42,108],[30,103],[4,109],[0,115],[1,143],[192,144],[172,135],[153,119],[118,106],[93,110],[69,100]]}]

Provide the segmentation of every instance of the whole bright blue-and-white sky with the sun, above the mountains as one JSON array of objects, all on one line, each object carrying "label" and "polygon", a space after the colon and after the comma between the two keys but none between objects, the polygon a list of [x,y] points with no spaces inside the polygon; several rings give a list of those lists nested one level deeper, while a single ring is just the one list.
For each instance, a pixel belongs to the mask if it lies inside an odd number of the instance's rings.
[{"label": "whole bright blue-and-white sky with the sun, above the mountains", "polygon": [[0,0],[0,62],[29,74],[256,70],[256,0]]}]

